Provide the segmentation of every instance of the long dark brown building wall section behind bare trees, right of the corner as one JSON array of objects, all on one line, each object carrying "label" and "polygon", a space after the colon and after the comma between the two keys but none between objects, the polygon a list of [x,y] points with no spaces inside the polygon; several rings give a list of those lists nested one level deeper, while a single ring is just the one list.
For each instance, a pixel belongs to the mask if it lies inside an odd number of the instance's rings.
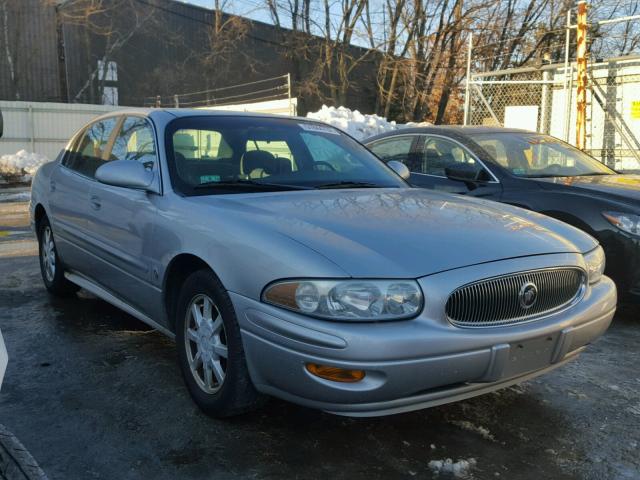
[{"label": "long dark brown building wall section behind bare trees, right of the corner", "polygon": [[[313,59],[300,54],[294,62],[297,52],[289,51],[285,44],[290,31],[247,20],[247,31],[234,42],[235,52],[220,62],[209,58],[211,10],[171,0],[106,0],[107,5],[109,2],[117,8],[107,8],[105,18],[96,20],[100,28],[93,30],[66,22],[69,7],[65,4],[60,7],[71,102],[102,103],[100,79],[95,77],[87,82],[102,59],[117,64],[117,81],[105,81],[102,86],[118,89],[120,105],[150,104],[156,95],[161,96],[163,103],[170,102],[174,94],[287,73],[292,74],[301,114],[327,101],[327,91],[319,94],[296,91],[300,81],[309,75]],[[110,36],[99,31],[105,25],[112,30]],[[127,38],[126,45],[114,48],[121,38]],[[320,41],[317,39],[318,46]],[[358,81],[350,88],[346,106],[371,111],[375,102],[375,64],[364,63],[354,78]]]}]

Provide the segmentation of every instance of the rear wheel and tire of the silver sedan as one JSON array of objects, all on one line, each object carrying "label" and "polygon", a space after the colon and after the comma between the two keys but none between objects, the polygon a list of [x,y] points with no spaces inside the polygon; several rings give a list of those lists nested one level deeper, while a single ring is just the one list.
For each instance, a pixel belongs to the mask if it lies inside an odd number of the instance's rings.
[{"label": "rear wheel and tire of the silver sedan", "polygon": [[38,256],[42,281],[49,293],[68,296],[80,289],[64,278],[64,268],[58,256],[53,231],[47,217],[40,220],[38,224]]}]

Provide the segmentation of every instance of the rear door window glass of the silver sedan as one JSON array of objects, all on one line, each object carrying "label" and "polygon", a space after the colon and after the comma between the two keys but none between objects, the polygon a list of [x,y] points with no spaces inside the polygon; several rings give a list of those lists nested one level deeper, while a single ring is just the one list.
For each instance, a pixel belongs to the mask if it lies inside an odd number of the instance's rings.
[{"label": "rear door window glass of the silver sedan", "polygon": [[107,161],[106,149],[117,123],[118,117],[112,117],[90,125],[65,158],[64,165],[93,178],[98,167]]}]

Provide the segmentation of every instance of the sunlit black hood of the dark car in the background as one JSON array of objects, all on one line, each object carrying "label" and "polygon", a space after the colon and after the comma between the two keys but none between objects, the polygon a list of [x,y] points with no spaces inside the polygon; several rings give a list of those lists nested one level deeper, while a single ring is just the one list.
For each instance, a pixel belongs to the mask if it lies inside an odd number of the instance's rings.
[{"label": "sunlit black hood of the dark car in the background", "polygon": [[538,178],[543,188],[571,188],[589,195],[612,196],[616,200],[640,202],[640,175],[588,175],[584,177]]}]

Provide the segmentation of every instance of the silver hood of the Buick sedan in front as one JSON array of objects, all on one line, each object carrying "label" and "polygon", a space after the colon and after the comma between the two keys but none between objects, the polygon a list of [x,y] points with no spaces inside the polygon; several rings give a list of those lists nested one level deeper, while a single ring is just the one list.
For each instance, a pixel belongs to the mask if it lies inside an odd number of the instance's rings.
[{"label": "silver hood of the Buick sedan in front", "polygon": [[[544,215],[423,189],[192,198],[216,204],[220,215],[231,215],[234,221],[276,230],[354,277],[418,278],[478,263],[586,252],[596,246],[585,233]],[[256,246],[261,247],[259,238]]]}]

